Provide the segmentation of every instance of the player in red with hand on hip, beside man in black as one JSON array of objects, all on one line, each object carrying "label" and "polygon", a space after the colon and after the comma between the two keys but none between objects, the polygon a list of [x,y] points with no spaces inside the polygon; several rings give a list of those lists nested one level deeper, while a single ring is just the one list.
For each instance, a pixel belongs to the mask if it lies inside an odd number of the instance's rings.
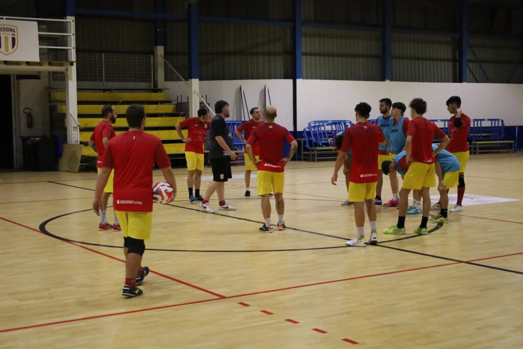
[{"label": "player in red with hand on hip, beside man in black", "polygon": [[[189,189],[189,202],[196,204],[202,201],[200,195],[201,172],[203,171],[203,143],[211,121],[207,109],[198,110],[198,117],[187,118],[178,122],[175,126],[178,136],[185,143],[185,160],[187,162],[187,188]],[[188,128],[187,137],[181,133],[181,129]],[[194,185],[195,193],[192,193]]]}]

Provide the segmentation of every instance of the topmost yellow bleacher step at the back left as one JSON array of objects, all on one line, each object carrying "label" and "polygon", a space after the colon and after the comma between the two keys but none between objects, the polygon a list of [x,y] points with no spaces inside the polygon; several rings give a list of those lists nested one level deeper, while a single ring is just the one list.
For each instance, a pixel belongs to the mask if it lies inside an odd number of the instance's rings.
[{"label": "topmost yellow bleacher step at the back left", "polygon": [[[51,100],[65,100],[65,92],[51,92]],[[164,92],[78,92],[78,102],[169,102]]]}]

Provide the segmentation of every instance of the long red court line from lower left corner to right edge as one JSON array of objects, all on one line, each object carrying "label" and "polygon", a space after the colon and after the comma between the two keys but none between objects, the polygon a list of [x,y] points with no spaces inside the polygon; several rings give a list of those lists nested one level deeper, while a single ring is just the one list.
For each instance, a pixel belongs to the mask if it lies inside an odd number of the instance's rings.
[{"label": "long red court line from lower left corner to right edge", "polygon": [[[4,218],[2,218],[2,219],[4,219]],[[15,223],[15,224],[18,224],[18,223]],[[27,227],[27,228],[29,228],[29,227]],[[32,228],[29,228],[29,229],[35,230],[35,229],[32,229]],[[486,257],[486,258],[482,258],[482,259],[486,260],[486,259],[491,259],[491,258],[501,258],[501,257],[504,257],[504,256],[511,256],[511,255],[516,255],[516,254],[523,254],[523,252],[515,253],[515,254],[507,254],[507,255],[502,255],[502,256]],[[472,262],[472,261],[467,261],[467,262]],[[158,309],[166,309],[166,308],[174,308],[174,307],[192,305],[192,304],[197,304],[197,303],[211,302],[211,301],[215,301],[215,300],[232,299],[232,298],[238,298],[238,297],[259,295],[259,294],[265,294],[265,293],[276,292],[276,291],[281,291],[281,290],[289,290],[289,289],[294,289],[294,288],[316,286],[316,285],[323,285],[323,284],[331,284],[331,283],[348,281],[348,280],[362,279],[362,278],[366,278],[366,277],[373,277],[373,276],[381,276],[381,275],[389,275],[389,274],[411,272],[411,271],[416,271],[416,270],[421,270],[421,269],[437,268],[437,267],[442,267],[442,266],[447,266],[447,265],[454,265],[454,264],[462,264],[462,263],[461,262],[454,262],[454,263],[438,264],[438,265],[433,265],[433,266],[405,269],[405,270],[389,272],[389,273],[363,275],[363,276],[351,277],[351,278],[346,278],[346,279],[332,280],[332,281],[327,281],[327,282],[322,282],[322,283],[315,283],[315,284],[300,285],[300,286],[285,287],[285,288],[279,288],[279,289],[273,289],[273,290],[252,292],[252,293],[244,294],[244,295],[228,296],[228,297],[223,297],[223,298],[211,298],[211,299],[205,299],[205,300],[198,300],[198,301],[194,301],[194,302],[173,304],[173,305],[168,305],[168,306],[161,306],[161,307],[154,307],[154,308],[145,308],[145,309],[130,310],[130,311],[122,311],[122,312],[118,312],[118,313],[103,314],[103,315],[97,315],[97,316],[92,316],[92,317],[85,317],[85,318],[78,318],[78,319],[70,319],[70,320],[63,320],[63,321],[41,323],[41,324],[37,324],[37,325],[28,325],[28,326],[24,326],[24,327],[17,327],[17,328],[12,328],[12,329],[4,329],[4,330],[0,330],[0,333],[2,333],[2,332],[9,332],[9,331],[16,331],[16,330],[31,329],[31,328],[36,328],[36,327],[44,327],[44,326],[55,325],[55,324],[60,324],[60,323],[67,323],[67,322],[82,321],[82,320],[89,320],[89,319],[105,318],[105,317],[117,316],[117,315],[129,314],[129,313],[135,313],[135,312],[142,312],[142,311],[149,311],[149,310],[158,310]],[[289,320],[290,319],[286,319],[285,321],[289,321]],[[292,321],[289,321],[289,322],[292,322]]]}]

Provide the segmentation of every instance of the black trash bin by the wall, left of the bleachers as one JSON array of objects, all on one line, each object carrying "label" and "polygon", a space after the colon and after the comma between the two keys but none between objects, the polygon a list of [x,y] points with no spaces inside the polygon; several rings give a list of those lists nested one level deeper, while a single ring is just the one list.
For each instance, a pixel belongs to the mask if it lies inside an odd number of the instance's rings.
[{"label": "black trash bin by the wall, left of the bleachers", "polygon": [[55,139],[51,137],[21,137],[24,168],[29,171],[57,171]]}]

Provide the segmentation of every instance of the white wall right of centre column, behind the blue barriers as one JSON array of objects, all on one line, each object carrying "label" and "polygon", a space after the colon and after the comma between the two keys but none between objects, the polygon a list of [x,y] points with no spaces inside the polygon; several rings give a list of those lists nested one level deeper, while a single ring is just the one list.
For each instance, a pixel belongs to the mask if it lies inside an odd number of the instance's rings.
[{"label": "white wall right of centre column, behind the blue barriers", "polygon": [[453,95],[461,97],[461,108],[472,119],[499,118],[507,126],[523,125],[523,85],[300,80],[298,130],[312,120],[352,121],[359,102],[369,103],[371,118],[376,118],[381,98],[405,103],[410,116],[408,103],[420,97],[427,102],[428,119],[447,119],[445,102]]}]

